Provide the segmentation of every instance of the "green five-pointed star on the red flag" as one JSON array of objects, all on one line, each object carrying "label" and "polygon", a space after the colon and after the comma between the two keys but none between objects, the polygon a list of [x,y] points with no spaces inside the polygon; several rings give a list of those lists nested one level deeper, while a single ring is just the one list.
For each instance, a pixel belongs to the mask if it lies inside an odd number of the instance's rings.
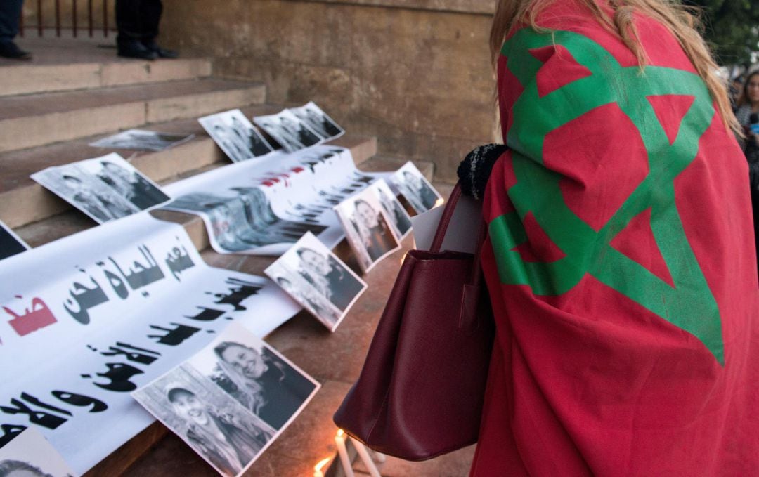
[{"label": "green five-pointed star on the red flag", "polygon": [[[534,80],[543,63],[529,50],[561,45],[591,74],[543,97]],[[502,53],[524,86],[513,107],[507,143],[516,184],[508,190],[515,212],[490,223],[490,237],[502,284],[529,285],[541,296],[561,295],[585,274],[612,287],[667,322],[698,337],[724,364],[720,310],[691,249],[675,205],[674,179],[693,162],[698,141],[715,111],[701,77],[669,67],[622,67],[597,42],[578,33],[537,33],[525,28]],[[647,96],[688,95],[694,102],[670,144]],[[579,100],[578,100],[579,99]],[[616,103],[638,129],[648,154],[647,177],[612,218],[595,231],[565,204],[562,176],[543,167],[546,134],[588,111]],[[572,105],[572,107],[568,107]],[[609,245],[636,215],[651,209],[654,240],[675,287]],[[565,253],[556,262],[524,262],[513,249],[528,240],[522,222],[532,212],[543,231]]]}]

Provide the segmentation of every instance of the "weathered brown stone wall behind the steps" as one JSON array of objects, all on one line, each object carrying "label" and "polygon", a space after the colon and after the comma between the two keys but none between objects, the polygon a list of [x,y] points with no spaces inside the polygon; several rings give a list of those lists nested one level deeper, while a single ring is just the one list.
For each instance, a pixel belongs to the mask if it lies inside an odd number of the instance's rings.
[{"label": "weathered brown stone wall behind the steps", "polygon": [[215,74],[313,99],[379,153],[434,162],[437,180],[493,139],[493,0],[164,0],[162,42]]}]

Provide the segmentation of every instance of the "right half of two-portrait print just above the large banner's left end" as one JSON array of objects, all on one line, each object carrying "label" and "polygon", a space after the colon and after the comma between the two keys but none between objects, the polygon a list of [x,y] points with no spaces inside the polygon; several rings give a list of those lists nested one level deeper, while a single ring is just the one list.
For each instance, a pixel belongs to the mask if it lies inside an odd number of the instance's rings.
[{"label": "right half of two-portrait print just above the large banner's left end", "polygon": [[97,177],[103,184],[114,190],[118,196],[127,199],[137,209],[153,209],[171,199],[158,184],[137,171],[134,166],[115,152],[99,158],[81,161],[78,164],[83,171]]}]

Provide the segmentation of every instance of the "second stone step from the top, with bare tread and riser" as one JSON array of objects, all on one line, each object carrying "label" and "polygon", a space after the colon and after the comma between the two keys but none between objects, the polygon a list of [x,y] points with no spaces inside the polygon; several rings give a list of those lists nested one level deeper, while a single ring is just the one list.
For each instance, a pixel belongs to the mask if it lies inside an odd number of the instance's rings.
[{"label": "second stone step from the top, with bare tread and riser", "polygon": [[0,152],[263,104],[266,87],[202,79],[0,98]]}]

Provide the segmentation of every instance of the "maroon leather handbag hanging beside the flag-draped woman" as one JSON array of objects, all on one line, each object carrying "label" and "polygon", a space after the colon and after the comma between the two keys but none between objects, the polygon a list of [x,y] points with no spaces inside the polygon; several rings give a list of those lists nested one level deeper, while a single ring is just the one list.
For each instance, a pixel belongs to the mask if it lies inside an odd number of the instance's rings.
[{"label": "maroon leather handbag hanging beside the flag-draped woman", "polygon": [[430,251],[408,252],[335,424],[367,447],[426,460],[477,442],[493,312],[477,252],[440,251],[458,184]]}]

